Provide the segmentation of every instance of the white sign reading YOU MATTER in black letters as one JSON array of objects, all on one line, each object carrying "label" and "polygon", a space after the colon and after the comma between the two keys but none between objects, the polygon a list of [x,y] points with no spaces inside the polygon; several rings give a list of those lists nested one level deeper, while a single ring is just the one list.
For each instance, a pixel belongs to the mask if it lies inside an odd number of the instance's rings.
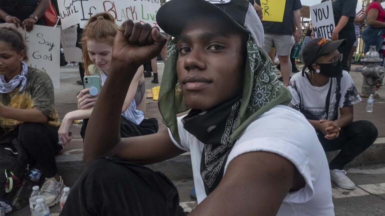
[{"label": "white sign reading YOU MATTER in black letters", "polygon": [[310,6],[310,16],[314,36],[330,39],[335,28],[331,1]]}]

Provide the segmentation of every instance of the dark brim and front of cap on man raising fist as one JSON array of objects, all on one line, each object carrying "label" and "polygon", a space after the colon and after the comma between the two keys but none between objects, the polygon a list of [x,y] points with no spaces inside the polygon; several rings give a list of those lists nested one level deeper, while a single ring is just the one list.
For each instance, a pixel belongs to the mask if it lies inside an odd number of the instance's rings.
[{"label": "dark brim and front of cap on man raising fist", "polygon": [[[185,23],[198,15],[221,17],[243,31],[248,30],[236,22],[218,6],[206,0],[170,0],[165,2],[156,13],[156,22],[164,32],[178,36]],[[229,23],[229,24],[230,24]],[[202,23],[204,24],[204,23]]]}]

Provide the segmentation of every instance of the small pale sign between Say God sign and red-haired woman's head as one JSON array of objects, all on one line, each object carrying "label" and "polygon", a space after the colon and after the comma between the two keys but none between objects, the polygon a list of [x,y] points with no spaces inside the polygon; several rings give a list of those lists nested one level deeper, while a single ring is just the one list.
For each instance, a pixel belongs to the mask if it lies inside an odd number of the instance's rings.
[{"label": "small pale sign between Say God sign and red-haired woman's head", "polygon": [[62,43],[66,61],[83,62],[82,50],[76,47],[77,36],[77,25],[62,29],[60,42]]}]

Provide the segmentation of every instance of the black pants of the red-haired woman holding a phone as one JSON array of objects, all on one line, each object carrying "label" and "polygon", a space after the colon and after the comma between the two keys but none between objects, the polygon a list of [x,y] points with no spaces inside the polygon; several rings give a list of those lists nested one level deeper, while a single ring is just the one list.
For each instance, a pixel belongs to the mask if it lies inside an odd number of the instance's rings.
[{"label": "black pants of the red-haired woman holding a phone", "polygon": [[[82,128],[80,129],[80,135],[83,139],[86,134],[87,125],[88,118],[83,119]],[[158,128],[158,120],[156,118],[145,118],[139,125],[137,125],[134,122],[127,120],[125,117],[120,116],[120,137],[132,137],[152,134],[156,133],[158,131]]]}]

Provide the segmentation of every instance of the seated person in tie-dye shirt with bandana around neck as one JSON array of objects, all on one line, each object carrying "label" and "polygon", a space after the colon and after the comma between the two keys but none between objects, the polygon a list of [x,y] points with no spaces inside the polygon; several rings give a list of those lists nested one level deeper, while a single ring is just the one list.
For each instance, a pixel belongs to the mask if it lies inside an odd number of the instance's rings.
[{"label": "seated person in tie-dye shirt with bandana around neck", "polygon": [[40,194],[48,206],[59,202],[65,187],[58,175],[55,154],[60,118],[51,78],[27,66],[27,45],[15,28],[0,27],[0,139],[15,136],[28,155],[30,167],[45,177]]}]

